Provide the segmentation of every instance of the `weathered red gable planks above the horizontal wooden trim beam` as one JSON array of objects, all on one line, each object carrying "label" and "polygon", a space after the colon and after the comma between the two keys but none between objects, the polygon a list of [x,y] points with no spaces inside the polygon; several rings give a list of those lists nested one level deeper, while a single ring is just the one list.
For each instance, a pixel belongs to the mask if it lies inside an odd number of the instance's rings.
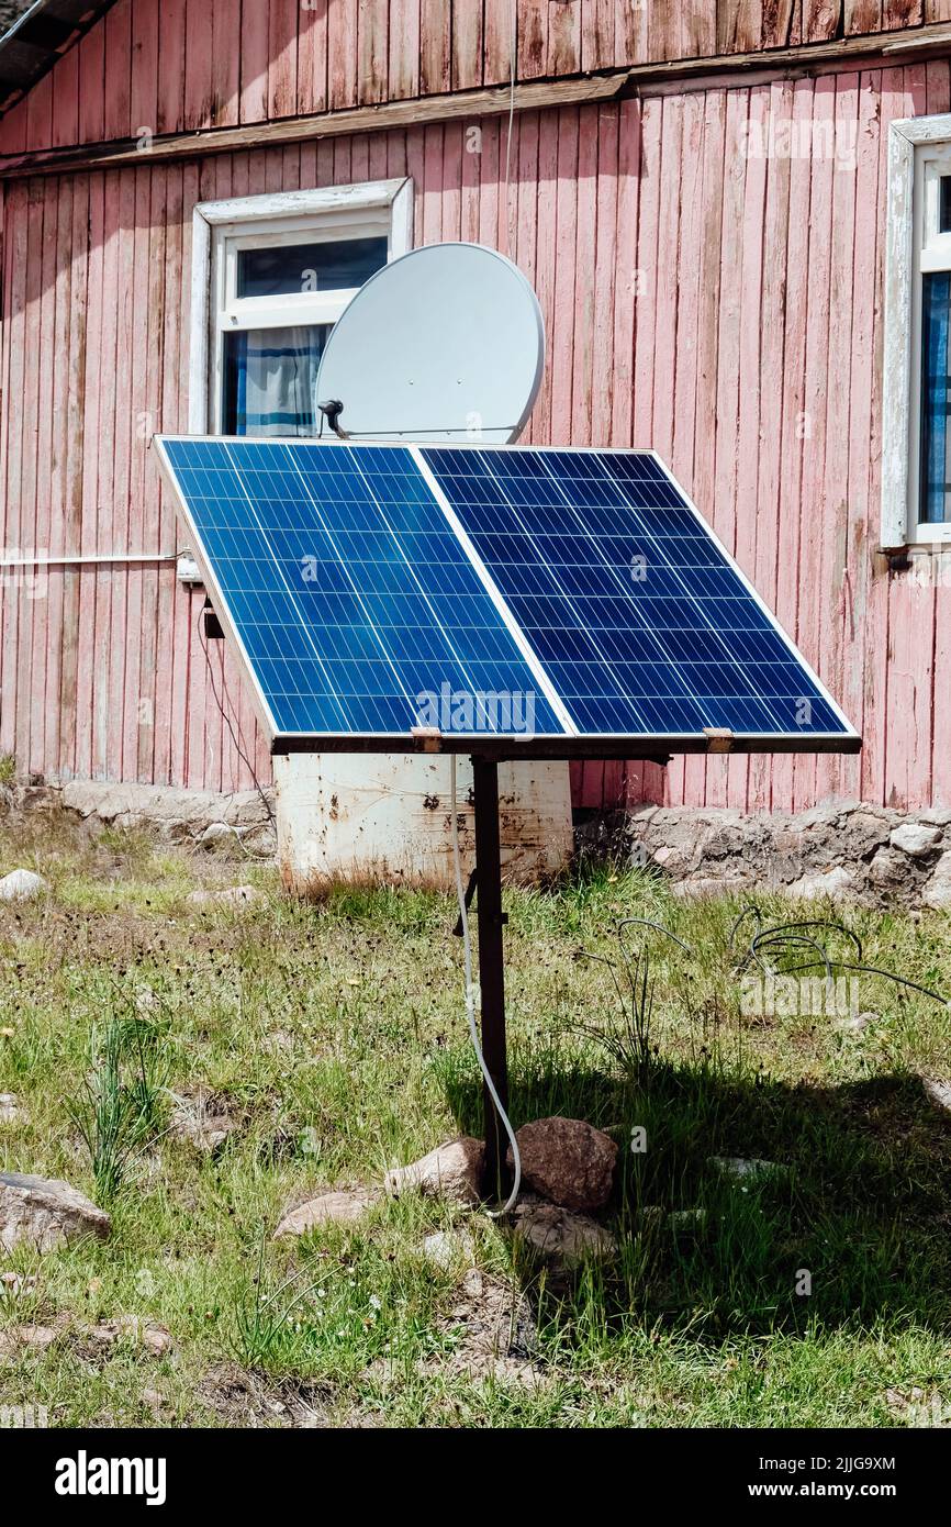
[{"label": "weathered red gable planks above the horizontal wooden trim beam", "polygon": [[951,0],[118,0],[8,113],[0,153],[502,84],[513,9],[519,79],[951,18]]}]

